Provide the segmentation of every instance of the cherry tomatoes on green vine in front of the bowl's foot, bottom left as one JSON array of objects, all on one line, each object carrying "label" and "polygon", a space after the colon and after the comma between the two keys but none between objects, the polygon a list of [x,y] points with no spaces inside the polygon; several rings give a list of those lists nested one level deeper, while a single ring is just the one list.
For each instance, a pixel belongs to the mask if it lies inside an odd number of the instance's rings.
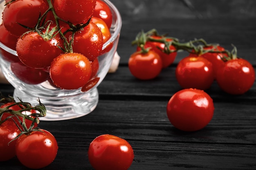
[{"label": "cherry tomatoes on green vine in front of the bowl's foot, bottom left", "polygon": [[27,168],[48,166],[57,155],[58,144],[50,132],[38,127],[39,117],[46,115],[45,106],[39,99],[39,105],[31,107],[30,103],[1,97],[0,161],[16,156]]}]

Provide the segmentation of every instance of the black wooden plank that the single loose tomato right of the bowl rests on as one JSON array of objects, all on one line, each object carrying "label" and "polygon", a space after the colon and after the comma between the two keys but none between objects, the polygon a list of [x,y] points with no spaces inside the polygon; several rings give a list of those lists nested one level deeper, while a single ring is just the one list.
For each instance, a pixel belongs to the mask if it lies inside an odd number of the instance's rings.
[{"label": "black wooden plank that the single loose tomato right of the bowl rests on", "polygon": [[110,133],[135,141],[256,145],[256,106],[215,102],[214,116],[208,126],[197,132],[183,132],[168,121],[167,102],[101,99],[89,115],[75,121],[56,121],[54,126],[51,121],[42,121],[40,127],[57,138],[94,139],[97,134]]}]

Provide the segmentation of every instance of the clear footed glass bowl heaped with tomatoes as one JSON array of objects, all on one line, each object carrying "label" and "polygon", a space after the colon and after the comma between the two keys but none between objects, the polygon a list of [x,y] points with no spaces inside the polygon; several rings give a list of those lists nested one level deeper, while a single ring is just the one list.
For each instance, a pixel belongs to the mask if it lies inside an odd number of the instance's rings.
[{"label": "clear footed glass bowl heaped with tomatoes", "polygon": [[[56,120],[66,120],[81,117],[91,113],[97,106],[99,101],[99,93],[97,91],[97,86],[102,82],[114,55],[117,51],[117,44],[119,40],[119,35],[121,31],[121,15],[117,8],[109,0],[103,0],[108,4],[110,10],[112,11],[112,25],[110,32],[112,34],[111,38],[103,44],[103,50],[112,45],[112,48],[107,53],[100,55],[98,57],[99,70],[97,72],[97,77],[99,81],[90,90],[82,92],[81,88],[76,90],[64,90],[52,86],[49,81],[42,82],[40,84],[27,84],[22,82],[16,75],[11,71],[11,63],[3,59],[2,53],[0,53],[0,66],[2,72],[6,79],[15,88],[13,97],[16,101],[18,98],[22,99],[24,102],[29,102],[33,105],[38,104],[38,98],[45,105],[47,109],[46,117],[41,117],[40,120],[45,121],[56,121]],[[3,5],[4,0],[0,0],[1,5]],[[3,8],[0,8],[1,13]],[[11,53],[17,56],[16,51],[8,48],[0,42],[1,51],[4,53]],[[67,79],[67,81],[69,81]]]}]

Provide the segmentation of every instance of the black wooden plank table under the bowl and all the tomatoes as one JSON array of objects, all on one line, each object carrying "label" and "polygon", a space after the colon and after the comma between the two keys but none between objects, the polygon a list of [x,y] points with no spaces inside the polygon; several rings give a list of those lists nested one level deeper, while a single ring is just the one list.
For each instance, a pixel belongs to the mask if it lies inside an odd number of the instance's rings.
[{"label": "black wooden plank table under the bowl and all the tomatoes", "polygon": [[[204,38],[217,42],[256,67],[255,18],[191,19],[124,16],[116,73],[109,73],[99,85],[99,104],[84,117],[65,121],[41,121],[40,127],[56,137],[58,154],[43,170],[93,170],[88,161],[90,142],[102,134],[126,139],[134,149],[129,170],[255,170],[256,169],[256,83],[244,95],[228,95],[214,82],[206,92],[213,98],[215,111],[202,130],[182,132],[168,121],[166,105],[181,87],[175,63],[153,80],[141,81],[130,74],[128,58],[135,51],[131,41],[141,29],[157,29],[188,41]],[[0,85],[4,95],[12,95],[11,85]],[[0,170],[26,170],[16,158],[0,162]]]}]

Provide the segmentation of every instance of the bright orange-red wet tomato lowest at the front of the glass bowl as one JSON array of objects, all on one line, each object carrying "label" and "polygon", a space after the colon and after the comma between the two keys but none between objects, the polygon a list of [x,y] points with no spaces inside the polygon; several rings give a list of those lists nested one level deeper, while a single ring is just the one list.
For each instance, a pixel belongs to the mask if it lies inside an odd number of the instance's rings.
[{"label": "bright orange-red wet tomato lowest at the front of the glass bowl", "polygon": [[70,90],[80,88],[88,82],[92,66],[84,55],[65,53],[53,60],[49,71],[55,86]]}]

